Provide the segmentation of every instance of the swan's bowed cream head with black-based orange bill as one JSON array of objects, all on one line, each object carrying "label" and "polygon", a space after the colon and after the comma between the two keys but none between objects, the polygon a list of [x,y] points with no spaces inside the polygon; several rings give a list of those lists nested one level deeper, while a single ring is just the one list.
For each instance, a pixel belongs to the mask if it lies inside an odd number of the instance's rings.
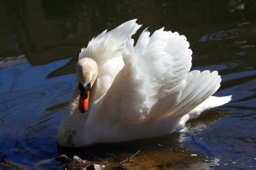
[{"label": "swan's bowed cream head with black-based orange bill", "polygon": [[95,60],[83,58],[77,62],[76,76],[80,92],[79,110],[84,113],[89,108],[90,93],[98,75],[98,66]]}]

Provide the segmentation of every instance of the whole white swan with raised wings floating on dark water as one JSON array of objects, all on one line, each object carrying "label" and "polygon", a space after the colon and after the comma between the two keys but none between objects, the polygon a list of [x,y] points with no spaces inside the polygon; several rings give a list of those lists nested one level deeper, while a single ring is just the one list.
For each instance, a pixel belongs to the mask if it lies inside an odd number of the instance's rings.
[{"label": "whole white swan with raised wings floating on dark water", "polygon": [[217,71],[191,69],[192,51],[178,32],[145,29],[129,20],[82,48],[77,88],[60,127],[58,143],[81,147],[163,136],[184,129],[202,111],[228,103],[212,96]]}]

